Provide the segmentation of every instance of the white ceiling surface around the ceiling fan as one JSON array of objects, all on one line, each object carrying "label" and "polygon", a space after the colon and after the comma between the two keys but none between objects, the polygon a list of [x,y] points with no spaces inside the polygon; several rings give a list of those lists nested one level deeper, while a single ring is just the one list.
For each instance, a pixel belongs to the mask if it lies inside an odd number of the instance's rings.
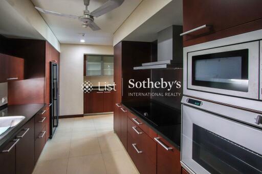
[{"label": "white ceiling surface around the ceiling fan", "polygon": [[[59,13],[82,16],[85,6],[83,0],[31,0],[35,6],[45,10]],[[91,0],[89,11],[100,7],[107,0]],[[124,3],[98,18],[96,24],[101,28],[99,31],[92,31],[90,28],[82,28],[81,22],[77,19],[42,14],[47,24],[54,32],[60,43],[80,43],[84,33],[84,44],[113,45],[113,34],[121,26],[124,20],[133,12],[142,0],[125,0]]]}]

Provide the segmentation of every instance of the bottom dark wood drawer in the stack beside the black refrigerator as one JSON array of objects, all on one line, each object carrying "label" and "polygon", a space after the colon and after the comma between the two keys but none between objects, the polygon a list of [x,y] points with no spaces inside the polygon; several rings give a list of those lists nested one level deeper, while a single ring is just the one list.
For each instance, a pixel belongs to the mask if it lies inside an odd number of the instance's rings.
[{"label": "bottom dark wood drawer in the stack beside the black refrigerator", "polygon": [[35,140],[35,163],[37,162],[43,147],[46,144],[46,127],[43,127],[43,129],[40,131],[40,133],[37,134],[37,138]]}]

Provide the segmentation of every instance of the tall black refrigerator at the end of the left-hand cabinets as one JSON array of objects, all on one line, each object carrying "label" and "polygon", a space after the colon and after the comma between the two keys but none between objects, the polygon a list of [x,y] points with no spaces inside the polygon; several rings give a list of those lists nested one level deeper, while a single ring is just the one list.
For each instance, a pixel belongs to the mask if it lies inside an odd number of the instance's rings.
[{"label": "tall black refrigerator at the end of the left-hand cabinets", "polygon": [[57,63],[50,62],[50,138],[53,137],[59,122],[58,77]]}]

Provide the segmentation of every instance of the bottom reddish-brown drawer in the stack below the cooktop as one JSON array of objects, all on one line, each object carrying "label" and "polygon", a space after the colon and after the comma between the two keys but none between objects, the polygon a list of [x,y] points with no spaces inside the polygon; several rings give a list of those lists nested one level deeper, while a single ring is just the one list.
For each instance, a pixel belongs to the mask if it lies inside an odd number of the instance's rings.
[{"label": "bottom reddish-brown drawer in the stack below the cooktop", "polygon": [[142,146],[142,142],[134,139],[132,135],[127,135],[127,152],[133,160],[138,171],[141,174],[155,174],[157,173],[157,166],[145,154],[146,148]]}]

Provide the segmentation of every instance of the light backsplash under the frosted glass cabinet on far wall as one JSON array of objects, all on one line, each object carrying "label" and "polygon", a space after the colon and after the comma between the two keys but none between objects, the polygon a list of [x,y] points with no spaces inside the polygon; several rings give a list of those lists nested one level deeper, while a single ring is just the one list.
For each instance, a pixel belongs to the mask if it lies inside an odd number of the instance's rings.
[{"label": "light backsplash under the frosted glass cabinet on far wall", "polygon": [[98,86],[100,82],[100,86],[104,86],[104,82],[107,84],[114,83],[114,76],[84,76],[84,81],[90,81],[93,86]]}]

